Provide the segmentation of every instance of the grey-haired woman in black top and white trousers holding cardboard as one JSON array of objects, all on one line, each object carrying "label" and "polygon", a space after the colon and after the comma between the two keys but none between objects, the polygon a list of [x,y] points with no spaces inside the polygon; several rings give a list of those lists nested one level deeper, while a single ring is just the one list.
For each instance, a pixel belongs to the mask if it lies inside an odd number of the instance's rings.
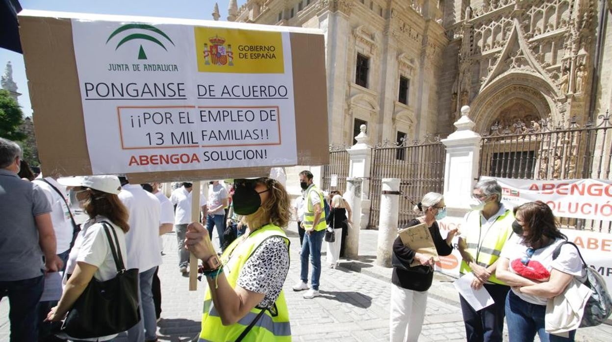
[{"label": "grey-haired woman in black top and white trousers holding cardboard", "polygon": [[[403,228],[424,223],[427,225],[438,255],[449,255],[453,250],[451,241],[457,228],[449,231],[442,239],[437,220],[446,217],[446,206],[441,194],[430,192],[414,206],[421,215],[408,222]],[[433,281],[433,256],[412,250],[401,242],[400,237],[393,243],[393,275],[391,278],[390,341],[417,341],[425,318],[427,290]],[[411,266],[417,262],[417,266]]]}]

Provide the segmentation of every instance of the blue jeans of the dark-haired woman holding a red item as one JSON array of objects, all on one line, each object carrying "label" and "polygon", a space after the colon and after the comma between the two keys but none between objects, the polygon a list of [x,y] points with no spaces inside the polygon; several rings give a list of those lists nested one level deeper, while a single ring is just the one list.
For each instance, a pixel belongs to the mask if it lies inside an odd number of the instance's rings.
[{"label": "blue jeans of the dark-haired woman holding a red item", "polygon": [[574,340],[576,330],[569,332],[569,338],[547,333],[544,325],[545,315],[546,305],[525,302],[514,292],[508,292],[506,297],[506,321],[510,342],[533,341],[536,332],[542,342]]}]

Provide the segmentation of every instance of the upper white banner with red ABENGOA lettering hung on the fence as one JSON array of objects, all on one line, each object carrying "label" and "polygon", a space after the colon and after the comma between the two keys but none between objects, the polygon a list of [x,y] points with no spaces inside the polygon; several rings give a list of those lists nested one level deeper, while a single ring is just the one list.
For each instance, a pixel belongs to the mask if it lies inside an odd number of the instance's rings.
[{"label": "upper white banner with red ABENGOA lettering hung on the fence", "polygon": [[[480,177],[480,179],[492,177]],[[508,207],[542,201],[558,217],[612,220],[612,181],[605,179],[532,180],[495,178]]]}]

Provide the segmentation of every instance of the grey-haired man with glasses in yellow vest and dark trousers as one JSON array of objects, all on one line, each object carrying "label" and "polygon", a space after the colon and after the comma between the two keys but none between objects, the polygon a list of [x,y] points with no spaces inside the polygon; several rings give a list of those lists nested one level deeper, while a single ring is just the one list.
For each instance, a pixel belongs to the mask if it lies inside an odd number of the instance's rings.
[{"label": "grey-haired man with glasses in yellow vest and dark trousers", "polygon": [[494,179],[481,180],[472,190],[472,211],[465,215],[458,249],[461,274],[473,273],[472,288],[487,289],[494,304],[474,310],[460,296],[468,342],[502,341],[504,303],[510,287],[495,277],[504,243],[512,234],[514,215],[501,203],[501,187]]}]

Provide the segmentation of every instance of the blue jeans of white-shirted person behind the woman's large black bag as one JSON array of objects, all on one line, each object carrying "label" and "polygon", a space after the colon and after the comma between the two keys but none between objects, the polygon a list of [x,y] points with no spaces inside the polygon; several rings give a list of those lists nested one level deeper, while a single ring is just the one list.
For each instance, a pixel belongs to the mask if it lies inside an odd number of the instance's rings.
[{"label": "blue jeans of white-shirted person behind the woman's large black bag", "polygon": [[138,302],[140,302],[140,321],[127,330],[130,342],[152,341],[157,338],[157,318],[151,286],[157,266],[138,273]]}]

